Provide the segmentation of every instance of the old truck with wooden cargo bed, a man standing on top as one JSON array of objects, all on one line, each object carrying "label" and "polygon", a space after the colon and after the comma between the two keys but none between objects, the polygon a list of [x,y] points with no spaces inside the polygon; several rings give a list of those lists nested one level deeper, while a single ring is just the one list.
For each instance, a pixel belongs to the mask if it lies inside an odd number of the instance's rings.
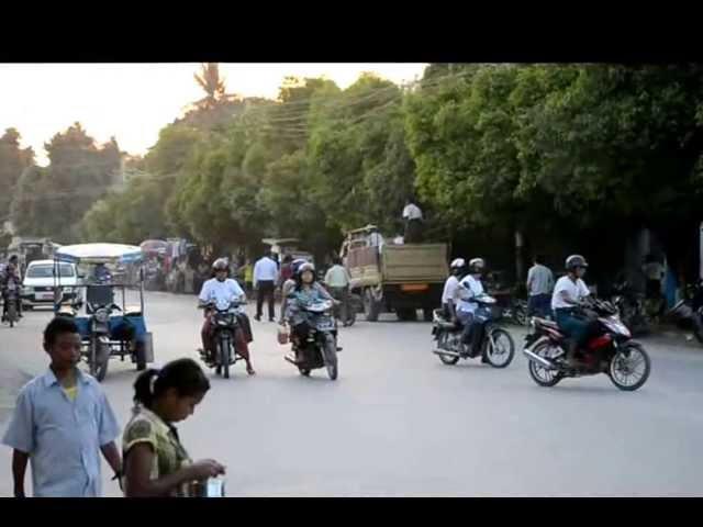
[{"label": "old truck with wooden cargo bed, a man standing on top", "polygon": [[429,322],[449,276],[447,245],[399,242],[387,243],[373,225],[347,233],[339,254],[352,277],[352,293],[362,299],[369,322],[384,312],[412,321],[417,310]]}]

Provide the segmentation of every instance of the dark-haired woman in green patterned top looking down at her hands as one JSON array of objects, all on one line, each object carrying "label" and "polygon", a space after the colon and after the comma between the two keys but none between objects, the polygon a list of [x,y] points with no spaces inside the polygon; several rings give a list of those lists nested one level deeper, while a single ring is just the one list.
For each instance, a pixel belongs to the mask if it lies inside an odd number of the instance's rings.
[{"label": "dark-haired woman in green patterned top looking down at her hands", "polygon": [[147,370],[134,383],[134,415],[123,436],[127,497],[189,496],[191,484],[224,474],[212,459],[193,463],[172,425],[188,418],[210,390],[202,369],[178,359]]}]

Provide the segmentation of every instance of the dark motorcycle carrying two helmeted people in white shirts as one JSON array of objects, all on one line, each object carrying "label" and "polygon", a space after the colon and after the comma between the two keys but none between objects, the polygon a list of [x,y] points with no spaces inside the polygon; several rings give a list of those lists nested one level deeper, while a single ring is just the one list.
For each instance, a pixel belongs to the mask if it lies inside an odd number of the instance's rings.
[{"label": "dark motorcycle carrying two helmeted people in white shirts", "polygon": [[505,368],[515,355],[515,343],[511,334],[498,325],[501,318],[493,307],[495,299],[481,295],[473,299],[479,304],[475,316],[483,323],[483,336],[479,349],[472,350],[470,345],[461,340],[464,328],[460,324],[447,321],[443,310],[434,311],[432,335],[439,349],[433,352],[439,356],[445,365],[454,366],[459,359],[486,357],[493,368]]}]

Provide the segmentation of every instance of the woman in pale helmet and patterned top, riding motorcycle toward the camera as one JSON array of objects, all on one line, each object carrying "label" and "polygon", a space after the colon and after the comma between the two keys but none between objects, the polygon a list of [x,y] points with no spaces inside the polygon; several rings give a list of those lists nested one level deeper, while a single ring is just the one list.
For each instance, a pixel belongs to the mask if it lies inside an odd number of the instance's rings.
[{"label": "woman in pale helmet and patterned top, riding motorcycle toward the camera", "polygon": [[[298,266],[295,273],[293,274],[295,285],[292,291],[288,293],[290,299],[295,299],[299,302],[306,304],[317,302],[321,300],[331,300],[336,303],[332,295],[317,282],[315,276],[315,266],[305,261]],[[297,302],[287,303],[286,309],[286,322],[291,327],[291,343],[293,351],[295,354],[295,362],[300,362],[301,343],[304,343],[310,333],[310,325],[304,315],[300,313],[300,309]],[[336,332],[335,332],[336,337]],[[341,349],[341,348],[337,348]]]}]

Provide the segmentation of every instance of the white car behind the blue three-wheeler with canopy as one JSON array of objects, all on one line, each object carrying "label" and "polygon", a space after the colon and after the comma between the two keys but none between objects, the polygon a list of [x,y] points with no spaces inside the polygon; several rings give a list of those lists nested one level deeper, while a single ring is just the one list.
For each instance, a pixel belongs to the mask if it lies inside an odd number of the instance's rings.
[{"label": "white car behind the blue three-wheeler with canopy", "polygon": [[[80,302],[82,290],[78,287],[82,282],[78,277],[75,264],[60,262],[60,284],[64,291],[64,302]],[[26,268],[22,281],[22,305],[26,309],[54,304],[54,260],[34,260]]]}]

